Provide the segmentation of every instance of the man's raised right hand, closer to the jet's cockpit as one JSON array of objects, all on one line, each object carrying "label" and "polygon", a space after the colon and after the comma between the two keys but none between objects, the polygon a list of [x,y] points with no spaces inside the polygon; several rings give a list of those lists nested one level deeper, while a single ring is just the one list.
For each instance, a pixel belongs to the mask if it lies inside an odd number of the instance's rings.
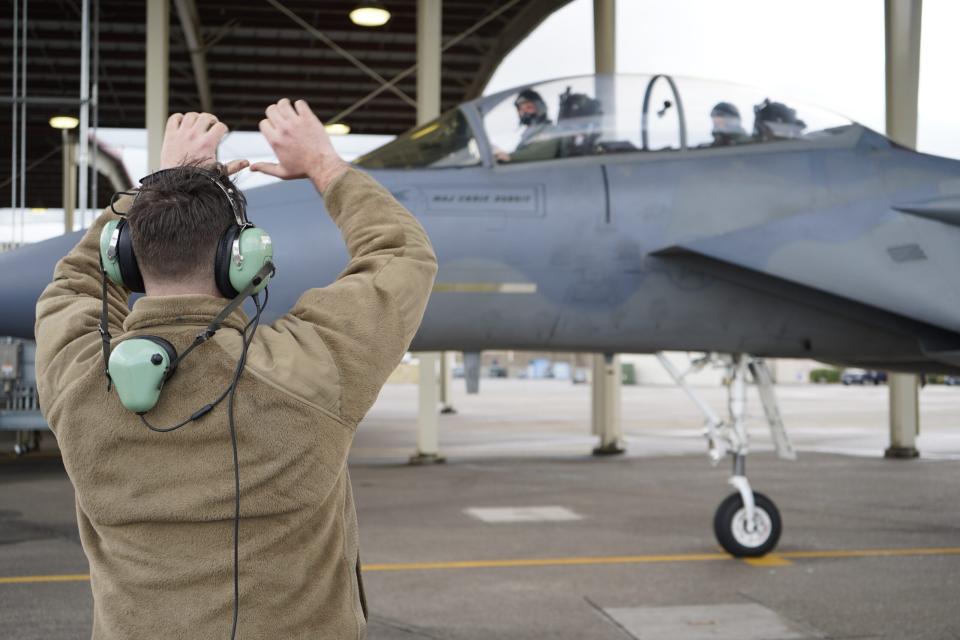
[{"label": "man's raised right hand, closer to the jet's cockpit", "polygon": [[340,158],[323,123],[304,100],[291,104],[283,98],[267,107],[260,131],[277,154],[277,162],[256,162],[260,171],[283,180],[310,178],[321,192],[348,168]]}]

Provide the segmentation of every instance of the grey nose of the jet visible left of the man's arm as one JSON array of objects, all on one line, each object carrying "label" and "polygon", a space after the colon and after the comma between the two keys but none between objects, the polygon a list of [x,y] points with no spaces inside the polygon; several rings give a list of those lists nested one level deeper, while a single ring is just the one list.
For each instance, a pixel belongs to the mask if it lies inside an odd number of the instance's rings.
[{"label": "grey nose of the jet visible left of the man's arm", "polygon": [[71,233],[0,253],[0,336],[33,338],[37,298],[80,236]]}]

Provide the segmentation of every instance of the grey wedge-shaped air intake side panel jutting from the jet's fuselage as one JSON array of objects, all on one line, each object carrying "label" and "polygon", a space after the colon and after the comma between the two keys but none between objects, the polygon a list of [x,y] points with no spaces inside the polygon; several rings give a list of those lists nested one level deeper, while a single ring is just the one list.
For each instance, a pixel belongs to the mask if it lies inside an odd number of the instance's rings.
[{"label": "grey wedge-shaped air intake side panel jutting from the jet's fuselage", "polygon": [[693,253],[960,332],[960,227],[876,203],[780,218],[655,251]]}]

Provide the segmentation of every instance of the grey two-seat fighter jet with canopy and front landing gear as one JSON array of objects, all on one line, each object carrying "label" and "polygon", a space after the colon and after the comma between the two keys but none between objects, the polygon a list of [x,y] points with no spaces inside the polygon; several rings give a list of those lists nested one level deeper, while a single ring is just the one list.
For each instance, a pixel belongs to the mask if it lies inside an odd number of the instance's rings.
[{"label": "grey two-seat fighter jet with canopy and front landing gear", "polygon": [[[356,164],[439,257],[414,350],[727,354],[731,416],[706,411],[712,457],[734,460],[715,530],[735,555],[766,553],[781,530],[744,472],[751,373],[792,456],[763,358],[960,370],[960,163],[792,98],[563,78],[462,104]],[[276,315],[346,254],[306,181],[248,199],[276,246]],[[32,336],[34,302],[76,240],[0,255],[0,335]]]}]

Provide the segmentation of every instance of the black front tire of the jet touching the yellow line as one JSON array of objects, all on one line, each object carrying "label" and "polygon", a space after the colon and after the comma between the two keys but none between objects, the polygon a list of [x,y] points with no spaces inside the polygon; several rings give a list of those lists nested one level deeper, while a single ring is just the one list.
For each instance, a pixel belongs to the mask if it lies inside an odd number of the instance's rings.
[{"label": "black front tire of the jet touching the yellow line", "polygon": [[757,507],[757,518],[761,524],[759,535],[749,534],[746,530],[735,530],[746,524],[743,498],[739,493],[727,496],[717,507],[713,517],[713,532],[717,536],[717,542],[735,558],[765,556],[777,546],[780,534],[783,532],[780,511],[773,501],[762,493],[754,493],[753,500]]}]

